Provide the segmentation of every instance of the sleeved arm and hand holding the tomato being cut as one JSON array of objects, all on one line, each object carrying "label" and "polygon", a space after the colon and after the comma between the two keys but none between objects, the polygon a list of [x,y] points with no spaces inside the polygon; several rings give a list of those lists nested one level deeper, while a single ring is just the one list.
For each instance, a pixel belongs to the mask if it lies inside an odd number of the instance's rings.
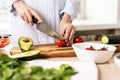
[{"label": "sleeved arm and hand holding the tomato being cut", "polygon": [[61,11],[61,14],[64,14],[60,22],[60,34],[66,38],[67,42],[70,42],[75,34],[76,28],[72,25],[72,20],[79,12],[79,8],[79,0],[67,0],[66,6]]}]

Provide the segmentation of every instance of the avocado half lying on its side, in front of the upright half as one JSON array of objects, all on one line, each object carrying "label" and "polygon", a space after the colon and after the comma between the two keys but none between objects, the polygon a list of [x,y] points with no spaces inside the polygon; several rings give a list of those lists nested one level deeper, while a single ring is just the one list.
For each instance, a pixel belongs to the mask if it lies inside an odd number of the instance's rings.
[{"label": "avocado half lying on its side, in front of the upright half", "polygon": [[36,59],[40,56],[40,50],[31,50],[27,52],[20,52],[18,54],[11,55],[11,58],[17,58],[19,60],[29,61]]}]

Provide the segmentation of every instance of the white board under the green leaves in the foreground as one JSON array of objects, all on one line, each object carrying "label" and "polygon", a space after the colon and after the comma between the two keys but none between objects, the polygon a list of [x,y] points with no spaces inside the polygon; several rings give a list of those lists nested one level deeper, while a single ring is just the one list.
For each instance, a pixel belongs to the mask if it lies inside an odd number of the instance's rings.
[{"label": "white board under the green leaves in the foreground", "polygon": [[72,76],[71,80],[98,80],[98,69],[94,62],[60,62],[47,60],[28,61],[30,66],[42,66],[44,68],[59,68],[61,64],[71,65],[78,74]]}]

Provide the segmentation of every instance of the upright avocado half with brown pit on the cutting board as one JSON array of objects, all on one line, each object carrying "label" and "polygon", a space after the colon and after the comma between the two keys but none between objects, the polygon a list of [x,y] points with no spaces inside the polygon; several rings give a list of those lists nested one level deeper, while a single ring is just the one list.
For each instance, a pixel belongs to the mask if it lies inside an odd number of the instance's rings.
[{"label": "upright avocado half with brown pit on the cutting board", "polygon": [[33,46],[33,40],[29,37],[20,37],[18,39],[18,45],[22,52],[26,52]]}]

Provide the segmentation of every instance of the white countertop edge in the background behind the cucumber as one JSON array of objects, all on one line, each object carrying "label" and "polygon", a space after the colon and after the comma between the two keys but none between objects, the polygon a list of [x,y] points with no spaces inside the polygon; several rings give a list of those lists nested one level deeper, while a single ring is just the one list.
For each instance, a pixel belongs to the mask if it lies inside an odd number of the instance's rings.
[{"label": "white countertop edge in the background behind the cucumber", "polygon": [[73,25],[76,26],[77,31],[87,30],[107,30],[120,29],[120,24],[117,21],[106,20],[74,20]]}]

